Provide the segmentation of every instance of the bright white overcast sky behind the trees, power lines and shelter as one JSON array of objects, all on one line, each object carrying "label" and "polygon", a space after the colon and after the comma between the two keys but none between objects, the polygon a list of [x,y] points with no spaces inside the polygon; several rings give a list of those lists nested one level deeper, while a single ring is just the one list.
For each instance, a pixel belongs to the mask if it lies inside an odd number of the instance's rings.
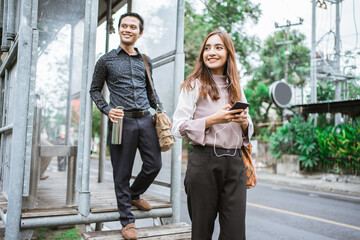
[{"label": "bright white overcast sky behind the trees, power lines and shelter", "polygon": [[[204,8],[204,4],[199,0],[187,0],[199,9],[199,12]],[[291,29],[297,29],[305,34],[305,44],[311,48],[311,24],[312,24],[312,1],[311,0],[252,0],[254,3],[259,3],[262,10],[262,15],[258,24],[252,22],[247,23],[247,33],[249,35],[256,35],[264,41],[274,31],[279,30],[275,28],[275,22],[279,25],[285,25],[289,20],[291,23],[299,22],[299,18],[304,19],[299,26],[293,26]],[[324,0],[320,0],[323,2]],[[335,0],[332,0],[335,1]],[[327,9],[316,8],[316,41],[318,42],[316,50],[328,54],[330,58],[334,54],[334,34],[329,34],[330,31],[335,32],[336,7],[330,1],[326,1]],[[122,10],[120,10],[122,11]],[[115,28],[121,13],[117,12],[113,17],[115,19]],[[340,3],[340,38],[341,38],[341,55],[343,56],[344,64],[359,65],[360,62],[360,0],[343,0]],[[105,24],[99,26],[97,34],[97,53],[104,53],[105,43]],[[116,48],[119,45],[119,35],[110,35],[110,49]],[[348,52],[348,57],[344,57]],[[354,56],[356,56],[354,58]],[[345,63],[345,61],[348,61]],[[356,75],[360,75],[360,68],[356,69]]]}]

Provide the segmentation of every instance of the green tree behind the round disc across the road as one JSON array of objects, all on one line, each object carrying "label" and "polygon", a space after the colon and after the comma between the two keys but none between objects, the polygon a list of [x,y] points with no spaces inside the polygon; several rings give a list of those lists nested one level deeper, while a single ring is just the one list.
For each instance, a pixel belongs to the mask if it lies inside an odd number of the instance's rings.
[{"label": "green tree behind the round disc across the road", "polygon": [[[245,95],[251,103],[250,115],[255,123],[268,122],[269,111],[274,108],[278,116],[282,109],[277,108],[269,97],[269,86],[285,77],[286,45],[277,44],[284,41],[284,31],[274,32],[269,36],[260,51],[260,64],[252,72],[253,78],[248,82]],[[309,76],[309,49],[304,45],[305,35],[298,31],[289,32],[292,41],[288,55],[287,82],[295,86],[303,86]]]}]

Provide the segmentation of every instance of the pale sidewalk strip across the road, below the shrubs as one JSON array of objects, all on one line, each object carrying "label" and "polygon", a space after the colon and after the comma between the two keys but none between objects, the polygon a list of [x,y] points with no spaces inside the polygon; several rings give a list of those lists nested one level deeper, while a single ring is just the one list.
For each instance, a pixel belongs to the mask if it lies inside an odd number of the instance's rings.
[{"label": "pale sidewalk strip across the road, below the shrubs", "polygon": [[334,192],[360,197],[360,177],[337,174],[301,174],[279,175],[271,170],[256,169],[258,183],[271,183],[281,186],[302,188],[314,191]]}]

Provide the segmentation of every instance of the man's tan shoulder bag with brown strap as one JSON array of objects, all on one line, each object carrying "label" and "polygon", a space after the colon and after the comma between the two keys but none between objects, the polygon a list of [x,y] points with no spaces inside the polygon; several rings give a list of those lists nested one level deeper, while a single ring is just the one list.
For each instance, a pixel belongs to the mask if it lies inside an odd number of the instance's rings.
[{"label": "man's tan shoulder bag with brown strap", "polygon": [[149,84],[151,86],[151,90],[154,94],[155,102],[157,105],[156,113],[153,116],[153,123],[155,125],[156,133],[158,135],[160,149],[162,152],[166,152],[169,150],[175,143],[175,138],[171,134],[170,131],[170,124],[167,121],[166,113],[164,113],[157,103],[156,94],[154,91],[154,87],[151,81],[151,74],[150,74],[150,68],[149,68],[149,62],[145,54],[142,55],[143,61],[146,68],[146,74],[149,80]]}]

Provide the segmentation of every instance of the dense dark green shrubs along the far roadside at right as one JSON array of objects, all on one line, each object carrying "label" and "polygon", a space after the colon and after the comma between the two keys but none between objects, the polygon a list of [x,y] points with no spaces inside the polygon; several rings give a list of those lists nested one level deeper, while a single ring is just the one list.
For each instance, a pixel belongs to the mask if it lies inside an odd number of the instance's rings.
[{"label": "dense dark green shrubs along the far roadside at right", "polygon": [[271,135],[270,144],[270,152],[275,158],[282,154],[297,154],[301,167],[307,171],[329,167],[336,172],[343,172],[342,168],[352,173],[360,170],[359,119],[349,125],[314,128],[312,123],[294,116],[289,124]]}]

